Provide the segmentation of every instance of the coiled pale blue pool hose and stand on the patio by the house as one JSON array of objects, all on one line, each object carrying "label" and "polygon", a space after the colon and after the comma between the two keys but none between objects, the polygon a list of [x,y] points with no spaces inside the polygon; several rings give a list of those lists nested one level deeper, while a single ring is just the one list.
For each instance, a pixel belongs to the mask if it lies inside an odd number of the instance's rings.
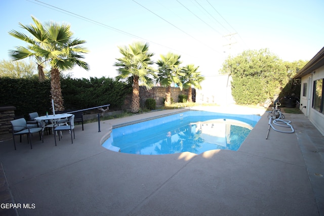
[{"label": "coiled pale blue pool hose and stand on the patio by the house", "polygon": [[[291,121],[282,120],[285,118],[285,115],[281,113],[280,106],[281,106],[281,104],[279,102],[277,102],[275,104],[275,107],[272,107],[272,111],[268,114],[269,128],[268,128],[267,136],[265,138],[266,140],[268,139],[270,127],[272,127],[272,129],[274,129],[274,131],[281,132],[281,133],[292,134],[295,132],[294,127],[290,124]],[[281,126],[281,127],[290,127],[291,131],[280,131],[279,129],[275,128],[272,123],[277,126]]]}]

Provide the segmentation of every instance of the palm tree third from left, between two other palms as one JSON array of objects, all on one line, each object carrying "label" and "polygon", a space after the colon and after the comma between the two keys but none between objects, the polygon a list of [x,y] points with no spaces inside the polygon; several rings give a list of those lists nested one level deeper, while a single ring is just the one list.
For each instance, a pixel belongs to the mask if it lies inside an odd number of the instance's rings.
[{"label": "palm tree third from left, between two other palms", "polygon": [[158,65],[157,82],[167,88],[165,105],[171,104],[171,84],[176,83],[182,90],[181,76],[184,76],[183,68],[180,66],[180,55],[168,53],[160,55],[161,59],[156,62]]}]

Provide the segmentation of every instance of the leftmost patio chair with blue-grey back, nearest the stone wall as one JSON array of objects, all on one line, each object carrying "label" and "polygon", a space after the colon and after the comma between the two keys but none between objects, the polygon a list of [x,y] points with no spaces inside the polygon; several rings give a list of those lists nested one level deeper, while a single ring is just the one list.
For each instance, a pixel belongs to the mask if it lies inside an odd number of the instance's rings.
[{"label": "leftmost patio chair with blue-grey back, nearest the stone wall", "polygon": [[30,149],[32,149],[32,145],[31,145],[31,138],[30,135],[34,134],[34,133],[39,133],[39,137],[41,137],[41,140],[44,143],[43,140],[43,133],[42,133],[42,127],[27,127],[27,122],[24,118],[19,118],[19,119],[15,119],[10,121],[11,125],[12,125],[12,137],[14,140],[14,146],[15,146],[15,150],[16,150],[16,142],[15,142],[15,135],[20,135],[20,142],[21,142],[21,136],[26,134],[27,135],[27,142],[30,143]]}]

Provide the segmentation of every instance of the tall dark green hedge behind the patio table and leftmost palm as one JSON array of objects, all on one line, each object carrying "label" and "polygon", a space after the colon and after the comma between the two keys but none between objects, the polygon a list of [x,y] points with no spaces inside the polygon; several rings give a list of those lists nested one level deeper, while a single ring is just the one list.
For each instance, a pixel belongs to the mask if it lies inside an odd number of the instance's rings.
[{"label": "tall dark green hedge behind the patio table and leftmost palm", "polygon": [[[50,81],[39,82],[37,77],[12,79],[0,78],[0,106],[15,106],[16,115],[28,117],[30,112],[44,115],[51,113]],[[110,104],[120,109],[127,94],[132,92],[129,84],[112,78],[61,79],[65,109],[85,109]]]}]

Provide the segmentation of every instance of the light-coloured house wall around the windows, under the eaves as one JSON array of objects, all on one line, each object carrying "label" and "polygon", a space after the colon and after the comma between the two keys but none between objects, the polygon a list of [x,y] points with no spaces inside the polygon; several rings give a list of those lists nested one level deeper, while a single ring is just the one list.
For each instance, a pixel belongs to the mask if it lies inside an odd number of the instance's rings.
[{"label": "light-coloured house wall around the windows, under the eaves", "polygon": [[[312,99],[313,99],[313,84],[314,80],[317,79],[323,79],[324,78],[324,66],[316,69],[313,73],[307,74],[306,76],[303,76],[301,79],[301,93],[300,93],[300,103],[303,104],[300,106],[300,109],[302,109],[302,112],[308,116],[310,122],[314,124],[314,126],[318,129],[318,131],[324,135],[324,114],[319,113],[315,109],[312,108]],[[308,81],[309,80],[309,81]],[[310,88],[308,88],[307,97],[305,98],[303,96],[303,83],[307,82],[310,84]],[[306,106],[306,109],[303,108],[303,106]],[[308,109],[307,109],[308,106]],[[304,110],[305,109],[305,110]]]}]

